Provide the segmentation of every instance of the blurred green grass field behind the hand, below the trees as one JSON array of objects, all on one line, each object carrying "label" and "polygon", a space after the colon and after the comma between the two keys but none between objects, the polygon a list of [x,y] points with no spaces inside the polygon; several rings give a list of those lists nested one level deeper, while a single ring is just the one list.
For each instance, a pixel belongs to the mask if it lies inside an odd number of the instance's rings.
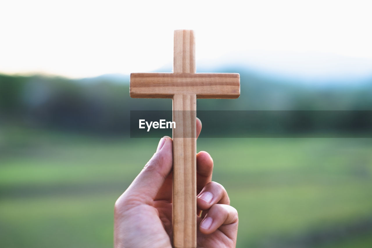
[{"label": "blurred green grass field behind the hand, below the trees", "polygon": [[[202,134],[201,134],[202,137]],[[157,139],[0,127],[0,247],[112,247],[113,204]],[[237,247],[372,247],[372,139],[199,139]]]}]

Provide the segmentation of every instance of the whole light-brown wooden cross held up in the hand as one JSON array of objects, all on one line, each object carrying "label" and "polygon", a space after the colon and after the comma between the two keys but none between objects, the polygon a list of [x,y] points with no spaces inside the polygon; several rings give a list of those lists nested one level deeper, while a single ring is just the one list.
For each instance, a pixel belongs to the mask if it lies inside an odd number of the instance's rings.
[{"label": "whole light-brown wooden cross held up in the hand", "polygon": [[196,247],[196,98],[234,99],[238,73],[196,73],[192,30],[174,31],[173,73],[131,73],[132,98],[172,98],[174,247]]}]

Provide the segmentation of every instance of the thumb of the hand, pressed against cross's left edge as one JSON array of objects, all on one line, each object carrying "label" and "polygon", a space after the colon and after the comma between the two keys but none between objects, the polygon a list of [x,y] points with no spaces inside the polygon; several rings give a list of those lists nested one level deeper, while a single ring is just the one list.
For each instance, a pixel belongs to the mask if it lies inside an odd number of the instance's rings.
[{"label": "thumb of the hand, pressed against cross's left edge", "polygon": [[172,169],[172,147],[173,142],[169,136],[161,138],[157,151],[124,194],[146,204],[153,201]]}]

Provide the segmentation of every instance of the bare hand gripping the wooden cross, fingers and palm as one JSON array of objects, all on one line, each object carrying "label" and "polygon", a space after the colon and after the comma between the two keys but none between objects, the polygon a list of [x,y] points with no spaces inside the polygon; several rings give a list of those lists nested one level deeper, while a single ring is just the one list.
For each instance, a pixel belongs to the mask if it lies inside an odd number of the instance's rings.
[{"label": "bare hand gripping the wooden cross, fingers and palm", "polygon": [[[201,126],[197,119],[198,136]],[[164,136],[153,157],[116,200],[116,248],[172,247],[172,163],[172,139]],[[199,152],[196,167],[198,247],[235,247],[238,213],[230,206],[225,188],[211,181],[211,156]]]}]

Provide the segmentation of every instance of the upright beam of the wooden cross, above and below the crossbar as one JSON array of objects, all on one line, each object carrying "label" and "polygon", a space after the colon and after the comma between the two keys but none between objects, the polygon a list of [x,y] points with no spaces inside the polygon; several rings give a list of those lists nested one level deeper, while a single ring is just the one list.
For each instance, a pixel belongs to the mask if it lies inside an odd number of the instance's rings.
[{"label": "upright beam of the wooden cross, above and below the crossbar", "polygon": [[[192,30],[174,31],[173,73],[195,73],[195,40]],[[196,94],[173,96],[174,247],[196,247]]]}]

